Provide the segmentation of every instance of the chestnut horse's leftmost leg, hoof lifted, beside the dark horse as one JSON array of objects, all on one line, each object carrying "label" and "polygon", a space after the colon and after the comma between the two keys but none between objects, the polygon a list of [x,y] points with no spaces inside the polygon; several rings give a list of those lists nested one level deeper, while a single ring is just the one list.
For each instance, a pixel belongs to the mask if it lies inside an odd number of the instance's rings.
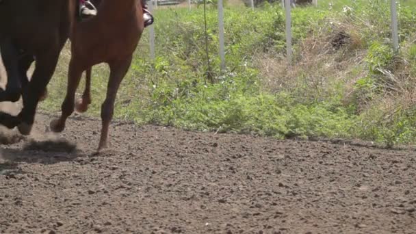
[{"label": "chestnut horse's leftmost leg, hoof lifted, beside the dark horse", "polygon": [[75,61],[77,60],[71,59],[69,62],[68,87],[61,107],[62,114],[60,118],[52,120],[51,122],[51,130],[54,132],[64,131],[66,119],[74,112],[75,92],[77,92],[79,81],[84,70],[83,67],[81,67],[81,64]]}]

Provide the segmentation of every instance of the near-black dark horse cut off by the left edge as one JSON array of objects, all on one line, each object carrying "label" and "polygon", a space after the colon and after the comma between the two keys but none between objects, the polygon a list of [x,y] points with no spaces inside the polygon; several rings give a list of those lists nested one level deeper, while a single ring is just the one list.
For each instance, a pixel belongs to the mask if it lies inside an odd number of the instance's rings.
[{"label": "near-black dark horse cut off by the left edge", "polygon": [[[36,107],[46,90],[75,19],[76,1],[2,0],[0,1],[0,49],[8,75],[0,101],[23,97],[18,116],[0,112],[0,124],[29,134]],[[26,71],[36,60],[30,82]]]}]

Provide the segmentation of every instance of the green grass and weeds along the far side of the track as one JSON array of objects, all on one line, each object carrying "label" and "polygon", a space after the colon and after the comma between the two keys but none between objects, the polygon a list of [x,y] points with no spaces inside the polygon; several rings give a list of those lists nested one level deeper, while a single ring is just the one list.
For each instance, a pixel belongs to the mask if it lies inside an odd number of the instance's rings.
[{"label": "green grass and weeds along the far side of the track", "polygon": [[[413,105],[408,99],[401,100],[408,105],[394,102],[398,90],[414,87],[416,53],[410,44],[415,38],[415,4],[408,1],[399,8],[400,42],[406,48],[399,55],[390,49],[389,4],[384,0],[325,0],[318,8],[294,9],[294,64],[299,65],[292,67],[285,65],[280,5],[265,4],[254,12],[227,5],[224,71],[219,69],[216,8],[207,10],[215,82],[205,79],[203,8],[158,9],[157,59],[148,59],[146,29],[118,92],[116,118],[276,138],[361,138],[389,145],[415,141]],[[341,33],[350,40],[334,49],[331,40]],[[66,48],[42,109],[60,109],[69,57]],[[272,67],[265,68],[264,57]],[[389,70],[400,81],[389,83],[380,70]],[[99,116],[108,75],[107,66],[94,67],[92,116]]]}]

